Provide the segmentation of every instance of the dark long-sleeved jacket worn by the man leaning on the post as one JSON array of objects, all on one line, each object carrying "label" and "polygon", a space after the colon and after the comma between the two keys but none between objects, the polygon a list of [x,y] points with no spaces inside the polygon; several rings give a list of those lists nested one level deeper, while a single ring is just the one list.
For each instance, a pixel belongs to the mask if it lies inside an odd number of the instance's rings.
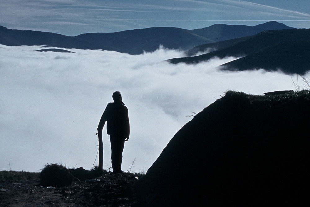
[{"label": "dark long-sleeved jacket worn by the man leaning on the post", "polygon": [[129,138],[128,109],[122,101],[108,103],[101,116],[98,129],[102,130],[105,122],[107,122],[108,134],[119,138]]}]

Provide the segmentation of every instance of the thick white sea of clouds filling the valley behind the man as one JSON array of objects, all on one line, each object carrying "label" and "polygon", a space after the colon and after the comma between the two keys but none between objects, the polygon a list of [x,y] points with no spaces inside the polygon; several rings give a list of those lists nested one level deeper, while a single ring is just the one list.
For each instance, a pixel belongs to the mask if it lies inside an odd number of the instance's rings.
[{"label": "thick white sea of clouds filling the valley behind the man", "polygon": [[[37,49],[42,48],[0,45],[0,170],[40,171],[46,163],[85,169],[98,165],[96,129],[107,103],[113,102],[112,93],[121,91],[131,125],[122,170],[144,172],[192,119],[186,116],[200,112],[225,91],[263,95],[295,90],[297,78],[264,70],[218,69],[234,57],[172,65],[164,60],[183,52],[162,47],[141,55]],[[105,127],[103,139],[108,169],[111,150]]]}]

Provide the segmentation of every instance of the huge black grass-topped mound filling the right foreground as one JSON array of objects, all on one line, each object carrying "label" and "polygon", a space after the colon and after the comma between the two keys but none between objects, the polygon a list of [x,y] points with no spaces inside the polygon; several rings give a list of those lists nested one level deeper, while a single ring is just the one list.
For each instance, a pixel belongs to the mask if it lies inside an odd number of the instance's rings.
[{"label": "huge black grass-topped mound filling the right foreground", "polygon": [[141,206],[296,206],[308,200],[310,92],[228,91],[138,181]]}]

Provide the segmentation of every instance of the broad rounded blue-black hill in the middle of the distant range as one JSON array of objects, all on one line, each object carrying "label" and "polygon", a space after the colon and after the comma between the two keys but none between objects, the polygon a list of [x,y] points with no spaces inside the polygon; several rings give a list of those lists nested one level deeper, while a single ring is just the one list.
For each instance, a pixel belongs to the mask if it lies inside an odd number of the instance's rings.
[{"label": "broad rounded blue-black hill in the middle of the distant range", "polygon": [[199,44],[212,42],[206,37],[176,27],[151,27],[114,33],[87,33],[77,37],[89,42],[96,42],[98,47],[108,46],[108,48],[112,48],[109,50],[129,54],[141,54],[144,51],[153,52],[160,45],[168,49],[190,49]]}]

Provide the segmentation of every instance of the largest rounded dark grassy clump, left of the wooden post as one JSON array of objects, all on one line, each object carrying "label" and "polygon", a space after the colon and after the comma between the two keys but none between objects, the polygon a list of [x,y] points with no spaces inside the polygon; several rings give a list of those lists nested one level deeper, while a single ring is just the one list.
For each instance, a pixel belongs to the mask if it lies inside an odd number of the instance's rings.
[{"label": "largest rounded dark grassy clump, left of the wooden post", "polygon": [[40,185],[61,187],[71,185],[73,176],[63,165],[46,164],[40,173]]}]

